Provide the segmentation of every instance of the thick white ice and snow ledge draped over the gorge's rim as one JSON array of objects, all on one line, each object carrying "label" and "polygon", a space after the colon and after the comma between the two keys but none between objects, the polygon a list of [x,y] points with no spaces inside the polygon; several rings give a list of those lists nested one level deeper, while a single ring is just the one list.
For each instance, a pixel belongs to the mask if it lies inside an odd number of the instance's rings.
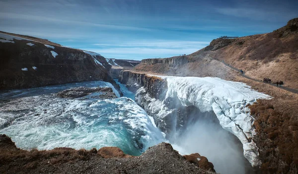
[{"label": "thick white ice and snow ledge draped over the gorge's rim", "polygon": [[[256,134],[252,126],[254,118],[250,115],[249,108],[245,106],[260,98],[271,98],[269,95],[253,90],[244,83],[225,81],[219,78],[156,77],[167,81],[168,89],[165,98],[177,96],[184,106],[194,105],[201,112],[214,111],[221,126],[241,141],[244,157],[252,167],[261,165],[258,148],[251,140]],[[144,88],[140,90],[144,90]],[[164,101],[155,99],[151,101],[150,109],[160,109],[157,113],[159,117],[162,117],[162,113],[169,111]],[[159,103],[158,108],[154,107],[153,103]]]}]

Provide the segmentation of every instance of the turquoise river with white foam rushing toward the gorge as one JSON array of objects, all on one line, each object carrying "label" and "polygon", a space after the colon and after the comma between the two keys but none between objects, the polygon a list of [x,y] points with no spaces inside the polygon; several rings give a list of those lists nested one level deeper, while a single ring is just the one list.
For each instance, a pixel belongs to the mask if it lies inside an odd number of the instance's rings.
[{"label": "turquoise river with white foam rushing toward the gorge", "polygon": [[135,156],[164,141],[152,118],[133,100],[134,93],[122,84],[124,96],[114,99],[94,99],[92,94],[86,99],[54,95],[80,86],[111,87],[111,84],[97,81],[2,91],[0,134],[10,136],[21,149],[114,146]]}]

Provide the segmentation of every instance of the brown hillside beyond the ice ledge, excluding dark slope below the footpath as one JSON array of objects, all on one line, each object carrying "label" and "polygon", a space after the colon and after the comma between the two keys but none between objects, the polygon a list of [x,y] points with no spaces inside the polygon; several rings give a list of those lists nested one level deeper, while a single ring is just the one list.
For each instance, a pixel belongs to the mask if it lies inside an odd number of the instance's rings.
[{"label": "brown hillside beyond the ice ledge, excluding dark slope below the footpath", "polygon": [[182,66],[141,63],[135,70],[231,80],[234,78],[233,71],[219,62],[224,61],[244,70],[245,75],[251,78],[270,78],[272,82],[283,81],[285,87],[298,88],[298,18],[271,33],[237,39],[215,39],[209,46],[186,57],[188,63]]}]

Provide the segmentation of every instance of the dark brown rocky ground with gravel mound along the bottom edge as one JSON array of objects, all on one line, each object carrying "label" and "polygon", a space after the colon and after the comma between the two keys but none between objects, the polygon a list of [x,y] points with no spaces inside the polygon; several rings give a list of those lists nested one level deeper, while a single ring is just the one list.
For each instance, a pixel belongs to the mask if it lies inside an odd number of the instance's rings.
[{"label": "dark brown rocky ground with gravel mound along the bottom edge", "polygon": [[18,149],[6,135],[0,135],[1,174],[215,174],[213,171],[207,158],[199,154],[182,157],[168,143],[160,143],[133,157],[115,147],[25,151]]}]

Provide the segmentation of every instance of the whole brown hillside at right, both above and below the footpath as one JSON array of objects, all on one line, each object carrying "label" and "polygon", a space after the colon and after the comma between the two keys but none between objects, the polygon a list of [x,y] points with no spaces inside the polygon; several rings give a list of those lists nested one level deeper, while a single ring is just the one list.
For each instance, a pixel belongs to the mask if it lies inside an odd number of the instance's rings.
[{"label": "whole brown hillside at right, both above and below the footpath", "polygon": [[258,100],[249,106],[256,121],[257,135],[264,174],[298,173],[298,94],[282,88],[256,82],[240,76],[222,61],[245,75],[272,82],[283,81],[285,87],[298,89],[298,18],[271,33],[236,39],[215,39],[209,46],[187,55],[187,63],[174,64],[177,57],[162,61],[144,60],[132,71],[140,74],[168,76],[220,77],[243,82],[269,94],[272,99]]}]

